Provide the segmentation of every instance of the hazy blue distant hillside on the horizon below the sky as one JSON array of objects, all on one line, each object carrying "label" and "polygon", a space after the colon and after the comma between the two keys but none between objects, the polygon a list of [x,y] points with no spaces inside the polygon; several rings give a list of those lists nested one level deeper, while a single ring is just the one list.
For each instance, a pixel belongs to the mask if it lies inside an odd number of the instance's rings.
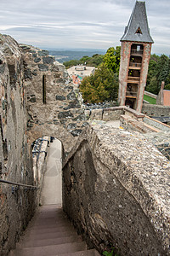
[{"label": "hazy blue distant hillside on the horizon below the sky", "polygon": [[56,50],[48,49],[50,55],[55,56],[55,60],[63,63],[64,61],[80,60],[83,56],[93,56],[95,54],[105,55],[105,49],[87,49],[87,50]]}]

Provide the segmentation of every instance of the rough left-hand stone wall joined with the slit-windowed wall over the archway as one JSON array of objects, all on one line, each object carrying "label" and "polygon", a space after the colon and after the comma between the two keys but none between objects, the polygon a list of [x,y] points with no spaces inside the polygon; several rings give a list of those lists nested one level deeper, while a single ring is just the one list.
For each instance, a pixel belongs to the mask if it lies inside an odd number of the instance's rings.
[{"label": "rough left-hand stone wall joined with the slit-windowed wall over the archway", "polygon": [[[14,183],[42,185],[32,170],[31,143],[52,136],[71,151],[85,113],[65,67],[46,50],[0,35],[0,175]],[[14,247],[37,209],[38,190],[0,183],[0,254]]]}]

